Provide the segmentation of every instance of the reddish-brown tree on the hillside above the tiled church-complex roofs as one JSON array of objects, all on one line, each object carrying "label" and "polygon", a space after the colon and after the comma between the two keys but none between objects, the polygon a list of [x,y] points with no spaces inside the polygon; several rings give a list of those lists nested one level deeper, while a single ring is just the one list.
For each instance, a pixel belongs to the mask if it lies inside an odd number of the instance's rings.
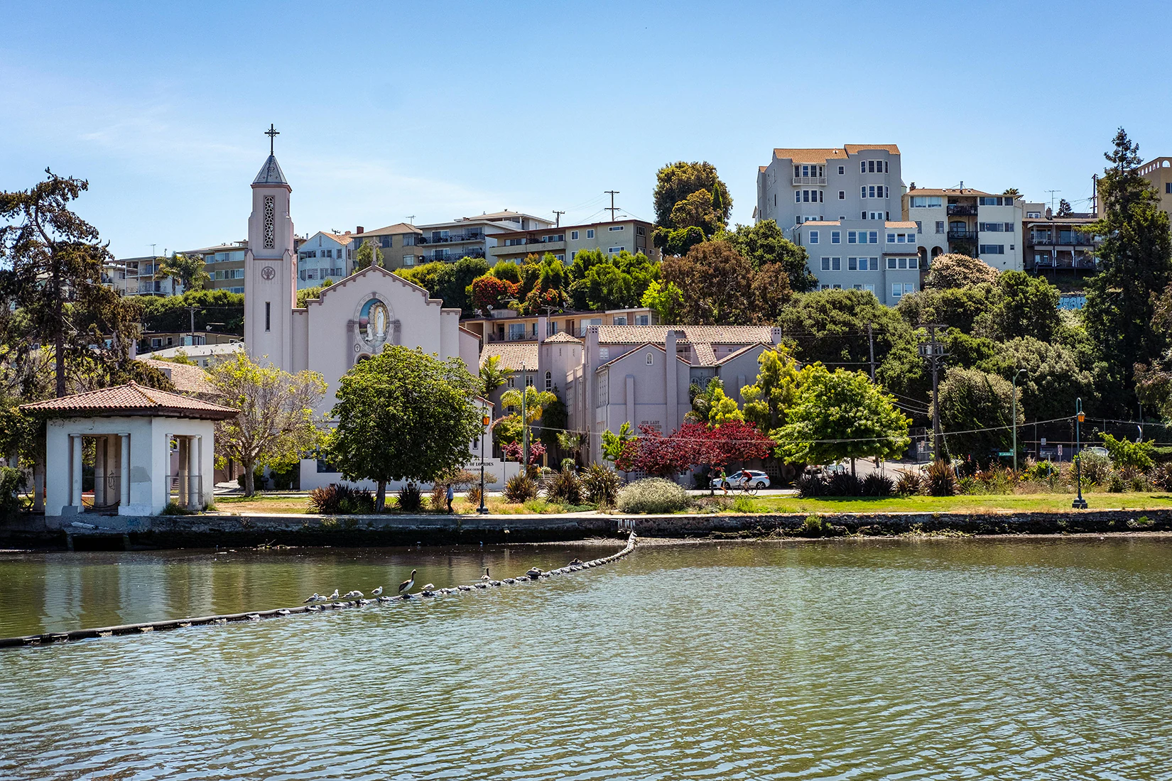
[{"label": "reddish-brown tree on the hillside above the tiled church-complex roofs", "polygon": [[743,326],[757,321],[752,266],[727,241],[696,245],[663,260],[663,281],[684,290],[682,326]]}]

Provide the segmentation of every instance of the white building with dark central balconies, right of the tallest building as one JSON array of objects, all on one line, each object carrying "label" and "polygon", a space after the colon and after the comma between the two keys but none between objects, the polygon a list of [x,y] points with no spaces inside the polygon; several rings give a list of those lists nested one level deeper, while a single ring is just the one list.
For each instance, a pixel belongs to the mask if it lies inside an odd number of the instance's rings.
[{"label": "white building with dark central balconies, right of the tallest building", "polygon": [[920,267],[945,253],[980,258],[999,270],[1021,270],[1021,196],[972,187],[917,187],[902,198],[902,218],[915,224]]}]

